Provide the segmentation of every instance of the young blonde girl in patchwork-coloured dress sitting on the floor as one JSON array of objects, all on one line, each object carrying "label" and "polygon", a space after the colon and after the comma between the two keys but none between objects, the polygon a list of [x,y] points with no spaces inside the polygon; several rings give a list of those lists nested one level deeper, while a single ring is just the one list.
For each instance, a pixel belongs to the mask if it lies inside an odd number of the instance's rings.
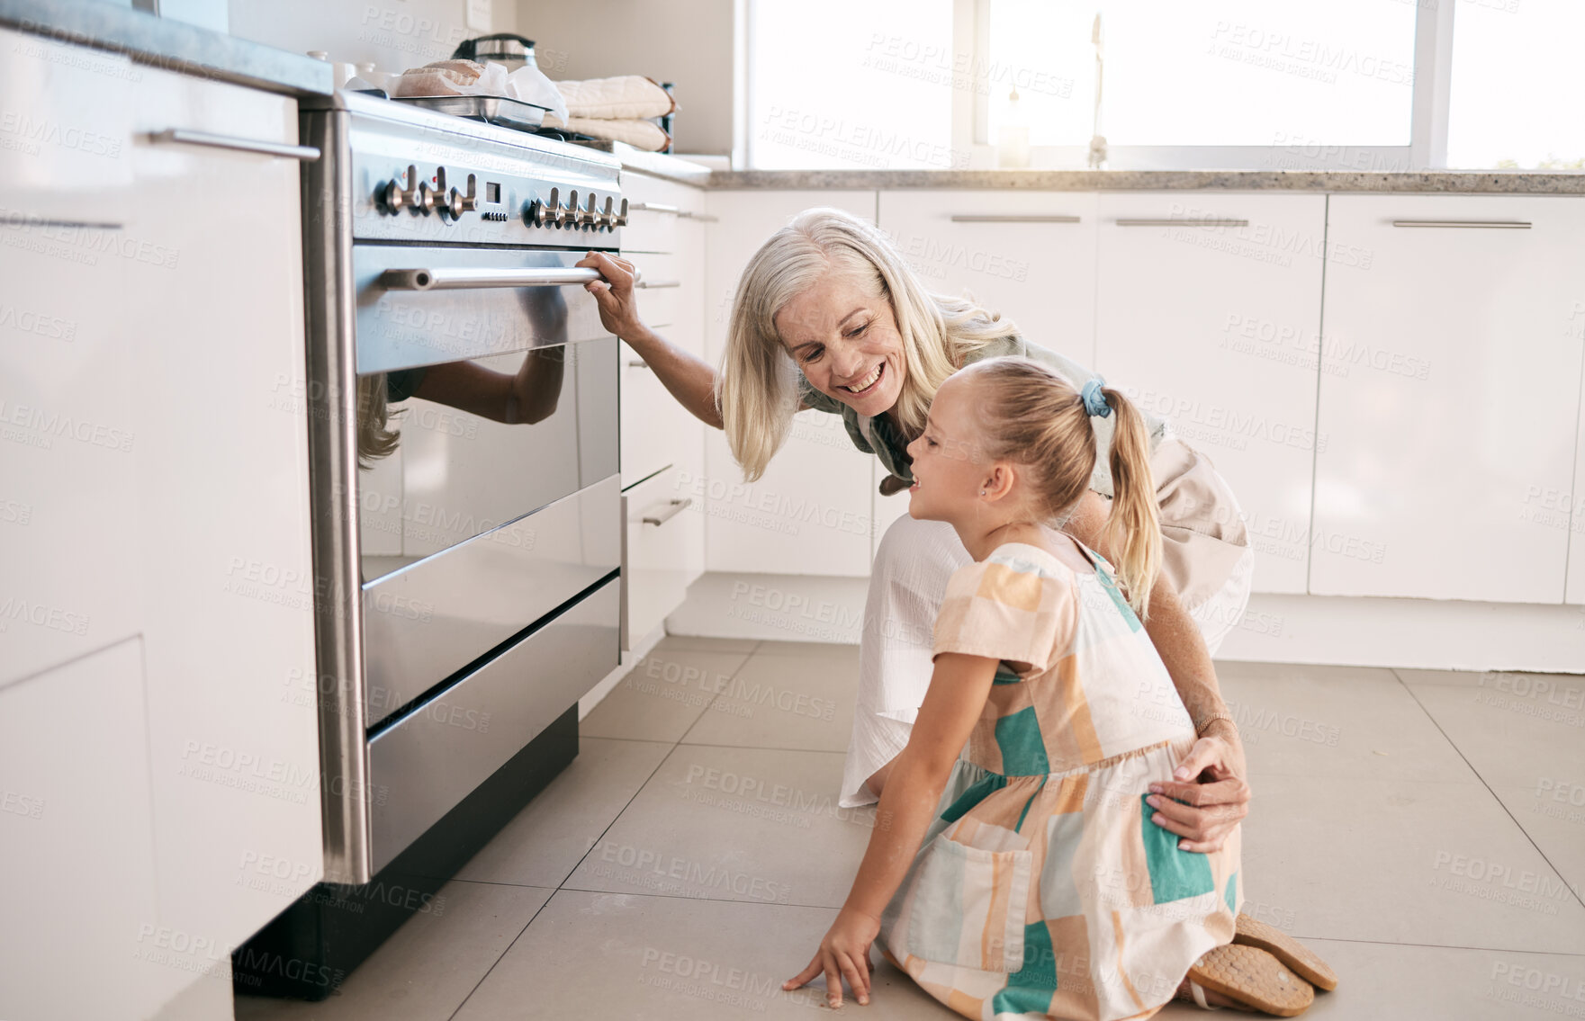
[{"label": "young blonde girl in patchwork-coloured dress sitting on the floor", "polygon": [[[1041,524],[1089,488],[1089,416],[1113,413],[1116,568]],[[867,1004],[878,939],[968,1018],[1148,1018],[1174,996],[1303,1012],[1314,989],[1292,961],[1233,945],[1239,831],[1200,853],[1154,820],[1151,785],[1195,730],[1136,616],[1160,527],[1135,407],[1098,378],[1078,391],[991,358],[946,380],[908,453],[908,514],[953,524],[973,562],[948,583],[853,893],[785,988],[824,974],[834,1007],[843,980]]]}]

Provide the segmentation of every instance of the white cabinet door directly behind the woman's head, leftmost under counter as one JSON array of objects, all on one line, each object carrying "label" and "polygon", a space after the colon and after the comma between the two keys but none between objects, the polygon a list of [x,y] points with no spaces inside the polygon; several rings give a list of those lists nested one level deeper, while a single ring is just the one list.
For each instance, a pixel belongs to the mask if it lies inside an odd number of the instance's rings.
[{"label": "white cabinet door directly behind the woman's head, leftmost under counter", "polygon": [[[750,256],[792,215],[837,206],[875,217],[873,192],[712,192],[705,253],[705,361],[718,364],[732,293]],[[870,570],[870,462],[837,415],[800,412],[764,476],[743,481],[726,435],[705,437],[705,472],[686,495],[705,503],[705,567],[862,578]]]}]

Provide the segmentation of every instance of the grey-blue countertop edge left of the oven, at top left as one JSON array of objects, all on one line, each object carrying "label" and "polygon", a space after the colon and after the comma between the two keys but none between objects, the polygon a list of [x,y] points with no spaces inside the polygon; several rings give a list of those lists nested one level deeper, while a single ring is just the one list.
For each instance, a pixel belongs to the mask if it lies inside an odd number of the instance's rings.
[{"label": "grey-blue countertop edge left of the oven, at top left", "polygon": [[323,60],[98,0],[0,0],[0,25],[266,92],[309,97],[333,89]]}]

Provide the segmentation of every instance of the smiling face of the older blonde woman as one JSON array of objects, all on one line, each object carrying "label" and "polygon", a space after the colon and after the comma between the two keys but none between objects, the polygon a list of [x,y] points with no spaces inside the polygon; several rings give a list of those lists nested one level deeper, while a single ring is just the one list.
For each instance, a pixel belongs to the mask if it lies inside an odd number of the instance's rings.
[{"label": "smiling face of the older blonde woman", "polygon": [[875,418],[889,412],[907,375],[891,301],[851,275],[827,271],[775,315],[777,332],[819,393]]}]

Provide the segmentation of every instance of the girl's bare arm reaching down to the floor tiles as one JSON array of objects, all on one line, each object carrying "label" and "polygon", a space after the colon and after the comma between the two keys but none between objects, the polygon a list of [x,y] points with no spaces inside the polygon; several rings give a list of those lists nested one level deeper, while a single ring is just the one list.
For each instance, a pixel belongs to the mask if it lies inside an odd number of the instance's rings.
[{"label": "girl's bare arm reaching down to the floor tiles", "polygon": [[997,660],[964,652],[935,657],[930,689],[908,734],[908,747],[892,763],[875,807],[875,829],[853,891],[819,942],[815,959],[781,983],[783,989],[797,989],[824,972],[826,999],[832,1007],[842,1007],[843,978],[859,1004],[870,1002],[870,943],[881,929],[881,912],[919,853],[953,763],[984,709],[995,666]]}]

